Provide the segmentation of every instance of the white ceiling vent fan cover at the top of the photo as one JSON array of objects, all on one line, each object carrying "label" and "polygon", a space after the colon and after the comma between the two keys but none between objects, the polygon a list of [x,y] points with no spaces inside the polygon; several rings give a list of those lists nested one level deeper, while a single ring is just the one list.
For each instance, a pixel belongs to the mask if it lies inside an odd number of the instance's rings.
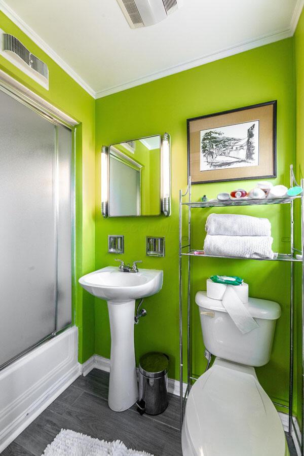
[{"label": "white ceiling vent fan cover at the top of the photo", "polygon": [[163,21],[182,6],[182,0],[117,0],[131,28]]}]

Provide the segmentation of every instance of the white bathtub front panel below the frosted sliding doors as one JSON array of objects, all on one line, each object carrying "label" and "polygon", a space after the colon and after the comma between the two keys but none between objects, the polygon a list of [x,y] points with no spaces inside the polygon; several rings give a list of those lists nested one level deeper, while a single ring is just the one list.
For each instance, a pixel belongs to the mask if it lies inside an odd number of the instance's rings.
[{"label": "white bathtub front panel below the frosted sliding doors", "polygon": [[72,327],[0,372],[0,453],[77,377],[78,329]]}]

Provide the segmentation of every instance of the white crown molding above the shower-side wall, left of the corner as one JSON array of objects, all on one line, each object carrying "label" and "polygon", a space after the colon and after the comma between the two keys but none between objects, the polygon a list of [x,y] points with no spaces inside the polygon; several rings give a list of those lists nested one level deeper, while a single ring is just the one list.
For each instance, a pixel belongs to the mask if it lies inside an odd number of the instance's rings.
[{"label": "white crown molding above the shower-side wall, left of the corner", "polygon": [[17,27],[20,28],[37,46],[48,54],[77,84],[95,98],[93,90],[42,38],[34,32],[3,0],[0,0],[0,11],[2,11]]}]

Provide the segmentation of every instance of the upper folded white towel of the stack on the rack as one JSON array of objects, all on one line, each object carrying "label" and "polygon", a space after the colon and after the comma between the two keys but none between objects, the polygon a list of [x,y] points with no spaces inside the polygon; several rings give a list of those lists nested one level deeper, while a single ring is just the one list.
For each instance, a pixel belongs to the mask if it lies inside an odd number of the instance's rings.
[{"label": "upper folded white towel of the stack on the rack", "polygon": [[268,218],[250,215],[210,214],[206,232],[212,236],[271,236],[271,223]]}]

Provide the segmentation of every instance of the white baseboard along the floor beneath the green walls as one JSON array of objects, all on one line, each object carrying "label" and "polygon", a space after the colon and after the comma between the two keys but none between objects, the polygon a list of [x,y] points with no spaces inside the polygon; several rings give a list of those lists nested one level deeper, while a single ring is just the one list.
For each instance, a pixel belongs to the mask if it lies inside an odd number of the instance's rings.
[{"label": "white baseboard along the floor beneath the green walls", "polygon": [[[84,364],[81,365],[82,375],[86,376],[92,369],[100,369],[100,370],[104,370],[105,372],[109,372],[110,371],[110,360],[108,358],[104,358],[103,356],[93,355]],[[183,383],[182,384],[183,395],[186,392],[186,388],[187,388],[187,384]],[[168,392],[171,394],[174,394],[175,396],[179,396],[179,381],[178,380],[175,380],[174,378],[168,378]],[[280,416],[280,419],[281,419],[281,422],[283,425],[283,429],[285,432],[287,432],[288,431],[288,414],[281,413],[281,412],[278,412],[278,413],[279,413],[279,416]],[[299,439],[301,439],[300,428],[299,428],[299,425],[298,425],[298,422],[297,422],[297,419],[295,416],[293,416],[293,422],[294,422],[295,428],[297,430],[297,435],[299,436]],[[292,436],[292,439],[294,442],[296,452],[297,452],[298,456],[301,456],[300,447],[297,442],[297,438],[296,438],[295,431],[293,428],[291,431],[291,436]]]}]

